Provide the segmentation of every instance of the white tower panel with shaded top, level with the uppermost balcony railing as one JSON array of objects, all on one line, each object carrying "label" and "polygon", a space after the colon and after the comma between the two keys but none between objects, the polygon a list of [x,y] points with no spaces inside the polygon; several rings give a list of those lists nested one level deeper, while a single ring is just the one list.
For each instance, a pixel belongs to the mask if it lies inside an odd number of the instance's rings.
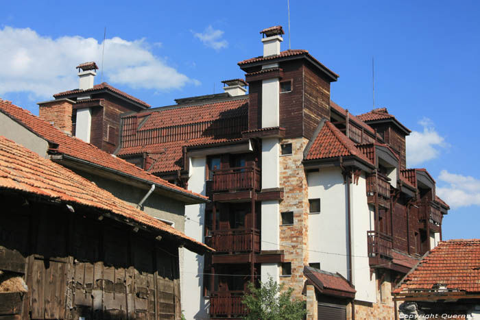
[{"label": "white tower panel with shaded top, level with the uppermost balcony railing", "polygon": [[280,186],[280,143],[278,138],[262,139],[262,188]]}]

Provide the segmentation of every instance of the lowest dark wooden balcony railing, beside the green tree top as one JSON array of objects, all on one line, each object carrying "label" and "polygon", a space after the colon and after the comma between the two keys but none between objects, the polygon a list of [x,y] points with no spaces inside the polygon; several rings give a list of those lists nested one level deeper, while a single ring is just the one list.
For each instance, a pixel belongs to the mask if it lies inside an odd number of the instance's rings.
[{"label": "lowest dark wooden balcony railing, beside the green tree top", "polygon": [[246,315],[247,307],[241,303],[243,291],[217,291],[210,297],[210,315],[226,317]]}]

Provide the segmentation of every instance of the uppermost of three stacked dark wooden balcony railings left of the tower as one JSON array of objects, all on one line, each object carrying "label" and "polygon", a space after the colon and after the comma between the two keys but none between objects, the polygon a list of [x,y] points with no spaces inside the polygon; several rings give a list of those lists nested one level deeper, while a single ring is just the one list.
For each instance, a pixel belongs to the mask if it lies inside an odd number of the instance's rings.
[{"label": "uppermost of three stacked dark wooden balcony railings left of the tower", "polygon": [[213,171],[213,192],[249,189],[261,189],[261,177],[258,168],[237,167]]}]

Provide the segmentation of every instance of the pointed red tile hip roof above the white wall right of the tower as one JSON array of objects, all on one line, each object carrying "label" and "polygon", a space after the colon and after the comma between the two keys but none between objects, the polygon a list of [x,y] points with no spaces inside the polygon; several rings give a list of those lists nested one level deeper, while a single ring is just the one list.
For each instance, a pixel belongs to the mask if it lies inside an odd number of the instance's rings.
[{"label": "pointed red tile hip roof above the white wall right of the tower", "polygon": [[352,140],[333,125],[325,121],[322,130],[313,141],[305,160],[337,158],[340,156],[356,156],[366,163],[370,160],[357,148]]}]

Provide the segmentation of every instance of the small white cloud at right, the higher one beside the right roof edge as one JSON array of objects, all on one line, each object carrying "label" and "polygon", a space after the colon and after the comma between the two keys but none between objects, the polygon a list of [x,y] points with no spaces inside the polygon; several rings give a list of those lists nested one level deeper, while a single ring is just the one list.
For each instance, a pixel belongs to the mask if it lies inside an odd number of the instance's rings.
[{"label": "small white cloud at right, the higher one beside the right roof edge", "polygon": [[422,125],[423,131],[413,131],[407,136],[408,167],[435,159],[440,155],[440,149],[448,147],[448,143],[438,134],[430,119],[423,118],[418,123]]}]

